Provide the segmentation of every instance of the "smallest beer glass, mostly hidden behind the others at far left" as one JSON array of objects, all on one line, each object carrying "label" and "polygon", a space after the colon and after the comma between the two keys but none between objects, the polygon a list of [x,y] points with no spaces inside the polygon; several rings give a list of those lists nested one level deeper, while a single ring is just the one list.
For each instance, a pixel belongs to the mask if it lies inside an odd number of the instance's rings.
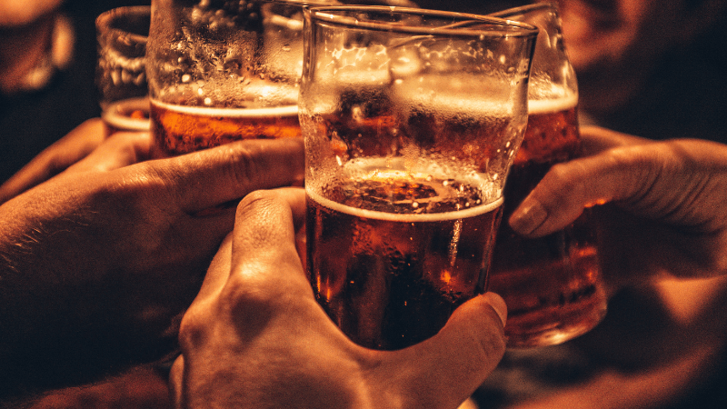
[{"label": "smallest beer glass, mostly hidden behind the others at far left", "polygon": [[148,5],[137,5],[114,8],[96,18],[95,81],[106,135],[149,130],[144,55],[150,15]]}]

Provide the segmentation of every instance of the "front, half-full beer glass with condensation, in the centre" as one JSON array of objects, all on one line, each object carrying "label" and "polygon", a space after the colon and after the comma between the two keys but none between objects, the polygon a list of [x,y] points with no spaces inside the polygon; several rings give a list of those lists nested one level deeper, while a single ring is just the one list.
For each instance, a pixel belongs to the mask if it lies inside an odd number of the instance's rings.
[{"label": "front, half-full beer glass with condensation, in the centre", "polygon": [[304,24],[309,278],[355,343],[403,348],[485,290],[537,29],[378,6]]}]

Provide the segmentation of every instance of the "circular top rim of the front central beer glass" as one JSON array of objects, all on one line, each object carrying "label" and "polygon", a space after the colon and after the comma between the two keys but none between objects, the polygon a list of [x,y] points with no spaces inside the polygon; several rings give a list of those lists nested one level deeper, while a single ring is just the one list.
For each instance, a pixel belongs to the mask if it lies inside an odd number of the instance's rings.
[{"label": "circular top rim of the front central beer glass", "polygon": [[[361,21],[352,16],[342,15],[343,12],[360,11],[379,12],[386,14],[421,15],[452,17],[456,21],[450,25],[438,27],[417,25],[395,25],[383,22]],[[473,15],[449,11],[429,10],[424,8],[388,6],[388,5],[306,5],[304,13],[311,19],[333,25],[351,28],[365,28],[376,31],[397,32],[413,35],[463,35],[488,37],[531,37],[538,34],[535,25],[507,20],[493,15]],[[339,13],[339,14],[336,14]],[[501,27],[500,29],[468,28],[467,25],[484,24]]]}]

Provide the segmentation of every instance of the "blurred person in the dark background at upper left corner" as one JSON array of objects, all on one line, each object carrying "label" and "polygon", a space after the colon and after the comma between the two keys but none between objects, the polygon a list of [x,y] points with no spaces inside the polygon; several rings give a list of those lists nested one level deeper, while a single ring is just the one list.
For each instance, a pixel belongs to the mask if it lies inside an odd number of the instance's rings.
[{"label": "blurred person in the dark background at upper left corner", "polygon": [[149,3],[0,0],[0,184],[76,126],[100,115],[95,17],[116,6]]}]

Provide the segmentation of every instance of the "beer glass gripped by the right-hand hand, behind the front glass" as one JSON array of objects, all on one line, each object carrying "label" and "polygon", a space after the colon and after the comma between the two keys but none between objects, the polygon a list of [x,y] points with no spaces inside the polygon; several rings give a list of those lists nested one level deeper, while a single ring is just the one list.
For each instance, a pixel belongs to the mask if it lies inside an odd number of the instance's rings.
[{"label": "beer glass gripped by the right-hand hand, behind the front glass", "polygon": [[[504,190],[507,220],[554,164],[579,155],[578,86],[553,5],[526,5],[494,15],[540,29],[530,75],[528,126]],[[607,300],[589,214],[586,210],[563,231],[538,239],[525,239],[501,224],[490,290],[507,304],[509,347],[561,344],[602,320]]]}]

